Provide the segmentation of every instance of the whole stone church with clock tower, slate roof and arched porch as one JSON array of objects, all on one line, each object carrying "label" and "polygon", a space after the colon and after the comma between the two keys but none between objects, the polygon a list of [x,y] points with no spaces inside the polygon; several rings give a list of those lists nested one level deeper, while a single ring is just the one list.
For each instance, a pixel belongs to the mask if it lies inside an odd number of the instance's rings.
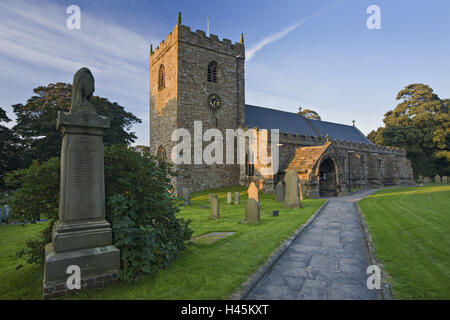
[{"label": "whole stone church with clock tower, slate roof and arched porch", "polygon": [[[374,145],[355,125],[307,119],[245,104],[245,45],[220,40],[181,23],[153,50],[150,47],[150,153],[165,157],[177,141],[172,133],[202,130],[278,129],[279,169],[262,172],[258,157],[246,149],[241,164],[176,164],[175,188],[201,191],[252,181],[273,192],[287,170],[294,169],[305,196],[341,196],[351,190],[413,183],[406,152]],[[270,141],[267,140],[270,144]],[[204,145],[206,145],[203,142]],[[270,147],[268,147],[270,153]],[[236,150],[234,150],[236,151]],[[192,155],[194,157],[194,155]],[[255,159],[256,158],[256,159]]]}]

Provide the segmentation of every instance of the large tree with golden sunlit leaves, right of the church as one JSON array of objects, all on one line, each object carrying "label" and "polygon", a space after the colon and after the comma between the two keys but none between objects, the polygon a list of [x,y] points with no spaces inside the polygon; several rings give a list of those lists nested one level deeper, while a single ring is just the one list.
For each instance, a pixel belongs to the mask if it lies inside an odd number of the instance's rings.
[{"label": "large tree with golden sunlit leaves, right of the church", "polygon": [[[450,100],[428,85],[414,83],[397,94],[398,105],[384,116],[382,144],[401,147],[415,175],[450,174]],[[376,136],[378,139],[380,137]]]}]

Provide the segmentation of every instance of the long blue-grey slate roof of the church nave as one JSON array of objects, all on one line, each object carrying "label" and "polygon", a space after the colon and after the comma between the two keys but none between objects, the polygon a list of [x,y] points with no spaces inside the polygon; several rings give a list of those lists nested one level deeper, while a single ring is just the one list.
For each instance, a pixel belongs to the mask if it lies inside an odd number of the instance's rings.
[{"label": "long blue-grey slate roof of the church nave", "polygon": [[306,119],[297,113],[245,105],[245,124],[250,128],[279,129],[282,133],[325,137],[332,140],[372,144],[356,127],[345,124]]}]

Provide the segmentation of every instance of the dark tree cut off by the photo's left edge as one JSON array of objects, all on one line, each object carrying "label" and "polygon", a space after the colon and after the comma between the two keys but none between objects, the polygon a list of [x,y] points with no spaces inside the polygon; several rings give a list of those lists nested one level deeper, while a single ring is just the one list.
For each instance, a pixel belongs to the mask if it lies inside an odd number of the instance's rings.
[{"label": "dark tree cut off by the photo's left edge", "polygon": [[10,128],[1,125],[10,122],[5,110],[0,108],[0,189],[4,187],[6,172],[18,169],[22,163],[20,137]]}]

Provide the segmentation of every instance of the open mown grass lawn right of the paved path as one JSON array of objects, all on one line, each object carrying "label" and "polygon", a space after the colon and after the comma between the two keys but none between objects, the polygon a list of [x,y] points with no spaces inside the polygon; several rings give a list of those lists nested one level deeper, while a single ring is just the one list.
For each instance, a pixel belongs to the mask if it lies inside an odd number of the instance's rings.
[{"label": "open mown grass lawn right of the paved path", "polygon": [[450,185],[395,188],[359,201],[396,299],[450,299]]}]

